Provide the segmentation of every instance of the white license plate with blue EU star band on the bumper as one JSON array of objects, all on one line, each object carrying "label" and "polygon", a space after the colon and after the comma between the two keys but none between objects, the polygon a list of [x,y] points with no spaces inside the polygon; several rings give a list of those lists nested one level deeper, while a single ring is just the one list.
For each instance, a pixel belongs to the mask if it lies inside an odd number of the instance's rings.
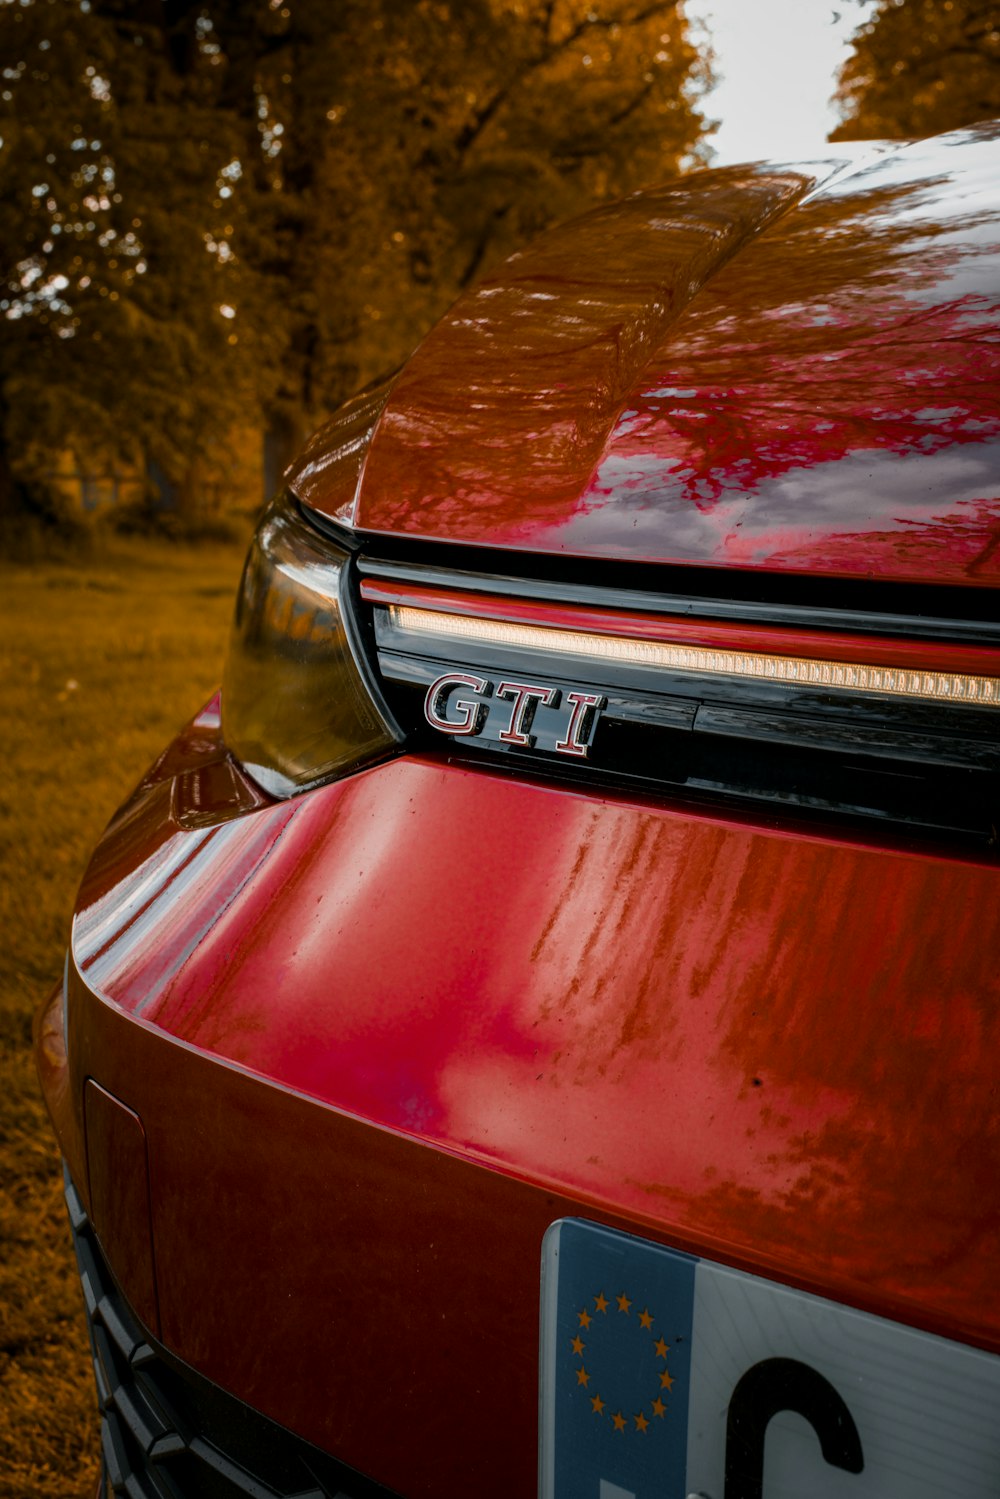
[{"label": "white license plate with blue EU star band on the bumper", "polygon": [[579,1219],[540,1417],[541,1499],[1000,1495],[1000,1358]]}]

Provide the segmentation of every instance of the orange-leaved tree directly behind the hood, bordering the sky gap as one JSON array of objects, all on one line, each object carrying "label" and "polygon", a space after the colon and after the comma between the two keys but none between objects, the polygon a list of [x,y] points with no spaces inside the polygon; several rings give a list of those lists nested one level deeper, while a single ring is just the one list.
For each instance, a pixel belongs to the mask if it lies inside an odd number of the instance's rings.
[{"label": "orange-leaved tree directly behind the hood, bordering the sky gap", "polygon": [[286,279],[309,298],[286,402],[304,427],[405,358],[531,234],[676,172],[703,127],[690,93],[708,79],[675,0],[337,13],[331,37],[297,6],[288,52],[258,70],[286,123],[280,186],[301,225],[285,240]]}]

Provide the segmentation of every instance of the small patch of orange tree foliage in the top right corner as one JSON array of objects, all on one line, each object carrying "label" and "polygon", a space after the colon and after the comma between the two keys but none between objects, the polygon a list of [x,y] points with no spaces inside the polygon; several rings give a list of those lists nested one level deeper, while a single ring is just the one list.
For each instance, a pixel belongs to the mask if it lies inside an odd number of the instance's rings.
[{"label": "small patch of orange tree foliage in the top right corner", "polygon": [[1000,115],[996,0],[877,0],[853,48],[835,141],[936,135]]}]

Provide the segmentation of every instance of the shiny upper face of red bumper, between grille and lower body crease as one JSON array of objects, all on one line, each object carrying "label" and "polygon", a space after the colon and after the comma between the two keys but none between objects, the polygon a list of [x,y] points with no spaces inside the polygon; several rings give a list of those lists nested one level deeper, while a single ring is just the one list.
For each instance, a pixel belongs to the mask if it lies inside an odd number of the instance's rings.
[{"label": "shiny upper face of red bumper, between grille and lower body crease", "polygon": [[[214,829],[168,808],[84,881],[87,1024],[1000,1348],[996,866],[427,757]],[[141,1115],[156,1219],[177,1111],[85,1027],[70,1057]]]}]

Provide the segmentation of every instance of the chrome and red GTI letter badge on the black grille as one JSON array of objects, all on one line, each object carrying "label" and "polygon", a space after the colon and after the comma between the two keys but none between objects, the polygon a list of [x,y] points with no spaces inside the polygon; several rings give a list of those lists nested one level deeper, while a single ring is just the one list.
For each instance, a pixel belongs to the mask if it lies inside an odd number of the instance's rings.
[{"label": "chrome and red GTI letter badge on the black grille", "polygon": [[472,672],[447,672],[424,697],[424,718],[442,735],[495,739],[498,744],[553,750],[585,758],[607,699],[579,688],[501,681]]}]

